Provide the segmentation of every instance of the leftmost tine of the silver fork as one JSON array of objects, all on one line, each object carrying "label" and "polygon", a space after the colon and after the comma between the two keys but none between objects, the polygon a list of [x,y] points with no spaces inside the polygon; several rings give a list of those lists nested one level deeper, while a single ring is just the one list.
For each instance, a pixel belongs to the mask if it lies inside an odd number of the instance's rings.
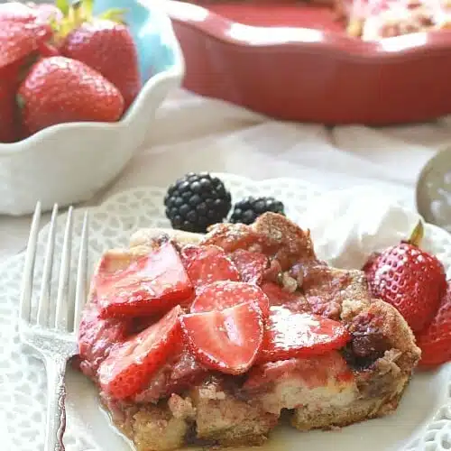
[{"label": "leftmost tine of the silver fork", "polygon": [[36,244],[41,219],[41,202],[36,203],[32,216],[32,226],[28,238],[25,262],[23,263],[23,281],[20,299],[20,316],[24,321],[30,321],[32,304],[32,278],[34,272],[34,261],[36,259]]}]

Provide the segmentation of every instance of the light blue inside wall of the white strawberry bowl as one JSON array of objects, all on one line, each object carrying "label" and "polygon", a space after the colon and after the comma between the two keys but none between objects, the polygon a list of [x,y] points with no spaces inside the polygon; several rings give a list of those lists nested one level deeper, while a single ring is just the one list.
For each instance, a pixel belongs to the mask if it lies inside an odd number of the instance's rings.
[{"label": "light blue inside wall of the white strawberry bowl", "polygon": [[110,8],[121,8],[125,11],[125,22],[128,24],[135,41],[141,78],[143,83],[152,75],[170,69],[177,59],[174,49],[175,37],[170,20],[161,12],[152,0],[95,0],[95,14]]}]

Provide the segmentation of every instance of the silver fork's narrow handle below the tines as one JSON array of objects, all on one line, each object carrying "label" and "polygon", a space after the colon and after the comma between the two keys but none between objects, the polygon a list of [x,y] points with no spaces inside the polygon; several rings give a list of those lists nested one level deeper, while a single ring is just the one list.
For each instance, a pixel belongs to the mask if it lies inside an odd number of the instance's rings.
[{"label": "silver fork's narrow handle below the tines", "polygon": [[44,451],[64,451],[62,437],[66,428],[66,373],[67,358],[49,355],[45,359],[47,372],[47,424]]}]

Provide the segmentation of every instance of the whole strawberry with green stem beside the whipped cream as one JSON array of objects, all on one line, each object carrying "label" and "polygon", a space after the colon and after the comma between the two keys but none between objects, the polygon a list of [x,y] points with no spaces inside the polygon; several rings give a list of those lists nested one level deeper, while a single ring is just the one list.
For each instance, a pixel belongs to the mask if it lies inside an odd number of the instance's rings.
[{"label": "whole strawberry with green stem beside the whipped cream", "polygon": [[422,235],[419,223],[409,241],[374,255],[364,266],[373,296],[397,308],[414,332],[428,326],[446,290],[443,265],[419,249]]}]

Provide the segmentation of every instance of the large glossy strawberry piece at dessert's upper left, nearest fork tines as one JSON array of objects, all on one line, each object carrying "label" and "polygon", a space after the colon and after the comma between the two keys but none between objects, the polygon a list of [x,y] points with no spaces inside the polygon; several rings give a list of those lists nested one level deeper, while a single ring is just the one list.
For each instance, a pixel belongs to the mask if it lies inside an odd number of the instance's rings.
[{"label": "large glossy strawberry piece at dessert's upper left, nearest fork tines", "polygon": [[108,271],[108,258],[100,263],[96,276],[103,318],[150,316],[192,299],[187,272],[170,243],[115,272]]}]

